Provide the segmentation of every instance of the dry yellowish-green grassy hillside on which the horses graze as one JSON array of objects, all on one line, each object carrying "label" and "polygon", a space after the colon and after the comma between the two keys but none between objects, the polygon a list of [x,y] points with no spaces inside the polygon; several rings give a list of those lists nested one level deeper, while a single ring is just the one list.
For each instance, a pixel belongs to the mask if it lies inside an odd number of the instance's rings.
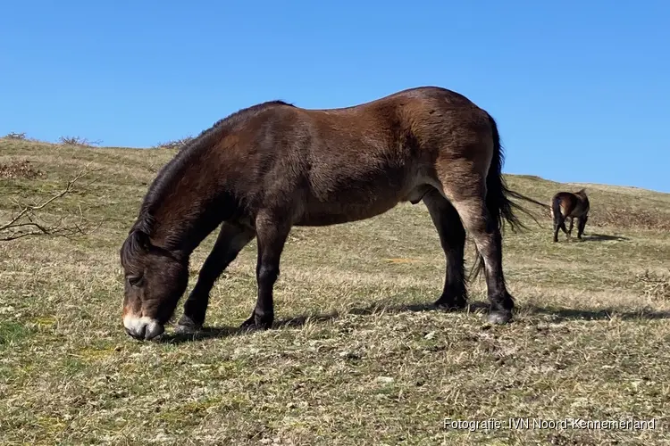
[{"label": "dry yellowish-green grassy hillside on which the horses graze", "polygon": [[[78,239],[0,242],[0,443],[670,442],[670,194],[509,176],[541,202],[586,186],[593,211],[582,242],[561,234],[551,243],[549,216],[533,205],[543,227],[526,219],[528,231],[506,233],[519,310],[508,326],[483,325],[482,278],[470,285],[469,312],[427,309],[444,257],[423,204],[406,204],[295,228],[276,328],[232,333],[255,304],[252,243],[214,287],[207,324],[216,329],[138,343],[121,325],[118,250],[174,153],[0,139],[0,223],[14,202],[48,198],[84,166],[93,171],[80,188],[49,209],[101,222]],[[195,252],[189,288],[213,241]],[[470,245],[467,255],[471,264]],[[444,428],[444,418],[491,417],[657,423]]]}]

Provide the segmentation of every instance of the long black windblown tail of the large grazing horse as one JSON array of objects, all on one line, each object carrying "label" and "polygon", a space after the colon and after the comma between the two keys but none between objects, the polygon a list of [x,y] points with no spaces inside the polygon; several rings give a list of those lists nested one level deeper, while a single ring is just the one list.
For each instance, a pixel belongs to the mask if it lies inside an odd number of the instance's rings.
[{"label": "long black windblown tail of the large grazing horse", "polygon": [[[502,167],[505,162],[505,153],[502,145],[500,145],[500,135],[498,134],[498,125],[489,113],[489,123],[493,136],[493,158],[490,161],[489,174],[486,177],[486,208],[489,211],[491,222],[496,225],[498,231],[502,232],[507,223],[513,231],[517,227],[525,227],[521,220],[516,216],[515,210],[525,211],[523,207],[515,202],[512,202],[509,197],[517,195],[515,192],[507,188],[505,178],[502,176]],[[477,260],[470,274],[470,277],[475,278],[483,267],[482,254],[477,250]]]}]

